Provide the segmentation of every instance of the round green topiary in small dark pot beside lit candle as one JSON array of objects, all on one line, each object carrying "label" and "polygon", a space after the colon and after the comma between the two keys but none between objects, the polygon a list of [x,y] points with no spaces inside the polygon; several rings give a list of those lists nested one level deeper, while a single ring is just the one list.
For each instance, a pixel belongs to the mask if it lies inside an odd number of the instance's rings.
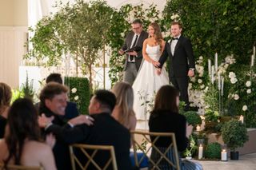
[{"label": "round green topiary in small dark pot beside lit candle", "polygon": [[238,160],[239,152],[235,152],[235,148],[242,147],[249,139],[246,125],[235,119],[227,121],[222,125],[222,139],[230,148],[230,160]]}]

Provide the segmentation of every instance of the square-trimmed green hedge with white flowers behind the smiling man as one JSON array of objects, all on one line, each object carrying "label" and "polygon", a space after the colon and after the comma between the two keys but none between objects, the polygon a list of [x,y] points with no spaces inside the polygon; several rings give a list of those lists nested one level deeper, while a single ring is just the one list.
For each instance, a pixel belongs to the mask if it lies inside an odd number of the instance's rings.
[{"label": "square-trimmed green hedge with white flowers behind the smiling man", "polygon": [[65,85],[70,87],[70,101],[78,105],[81,114],[88,114],[90,104],[90,84],[85,77],[65,77]]}]

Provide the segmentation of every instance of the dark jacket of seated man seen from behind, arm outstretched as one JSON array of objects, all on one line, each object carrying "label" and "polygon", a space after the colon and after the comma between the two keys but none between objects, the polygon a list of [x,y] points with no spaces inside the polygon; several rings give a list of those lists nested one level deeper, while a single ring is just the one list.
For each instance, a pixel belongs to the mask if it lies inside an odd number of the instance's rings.
[{"label": "dark jacket of seated man seen from behind, arm outstretched", "polygon": [[[47,131],[53,132],[57,140],[67,144],[102,144],[113,145],[118,164],[118,169],[130,170],[130,132],[127,128],[115,121],[110,113],[91,115],[94,118],[94,125],[78,125],[71,128],[70,125],[60,127],[50,125]],[[80,156],[78,154],[78,156]],[[106,161],[106,153],[96,156],[100,164]],[[85,159],[82,157],[82,159]],[[91,168],[88,168],[91,169]]]}]

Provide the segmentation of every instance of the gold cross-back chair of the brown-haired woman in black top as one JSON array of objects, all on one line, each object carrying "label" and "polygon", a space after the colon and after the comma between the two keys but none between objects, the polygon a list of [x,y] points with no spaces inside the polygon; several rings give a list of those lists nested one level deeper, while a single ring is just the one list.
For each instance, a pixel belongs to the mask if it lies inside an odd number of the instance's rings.
[{"label": "gold cross-back chair of the brown-haired woman in black top", "polygon": [[[148,156],[149,163],[152,164],[152,168],[150,169],[158,169],[160,170],[161,168],[159,167],[159,164],[162,161],[165,161],[168,166],[172,169],[177,169],[180,170],[180,164],[179,164],[179,156],[178,156],[178,149],[177,149],[177,144],[176,144],[176,139],[175,139],[175,134],[173,132],[142,132],[142,131],[131,131],[131,136],[132,136],[132,144],[133,144],[133,149],[134,149],[134,161],[135,161],[135,166],[137,168],[140,167],[140,164],[142,164],[142,161],[145,159],[145,157],[149,154],[150,151],[157,152],[158,155],[158,160],[152,160],[150,156]],[[150,136],[154,138],[153,141],[150,140]],[[160,137],[170,137],[171,141],[170,145],[166,147],[165,151],[161,151],[155,143],[159,140]],[[141,141],[135,140],[135,138],[139,138]],[[146,148],[145,144],[150,143],[149,147]],[[138,156],[136,152],[143,152],[143,156],[140,157],[138,160]],[[167,155],[169,154],[168,152],[173,153],[173,158],[170,159]]]}]

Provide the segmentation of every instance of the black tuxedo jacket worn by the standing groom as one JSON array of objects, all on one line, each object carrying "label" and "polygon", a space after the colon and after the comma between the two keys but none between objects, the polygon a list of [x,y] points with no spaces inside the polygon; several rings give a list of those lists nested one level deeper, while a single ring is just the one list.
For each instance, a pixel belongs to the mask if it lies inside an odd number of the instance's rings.
[{"label": "black tuxedo jacket worn by the standing groom", "polygon": [[167,57],[170,57],[169,77],[187,77],[189,69],[194,68],[194,53],[190,40],[181,35],[175,46],[174,56],[170,52],[170,44],[171,41],[166,42],[165,49],[159,58],[160,68]]}]

